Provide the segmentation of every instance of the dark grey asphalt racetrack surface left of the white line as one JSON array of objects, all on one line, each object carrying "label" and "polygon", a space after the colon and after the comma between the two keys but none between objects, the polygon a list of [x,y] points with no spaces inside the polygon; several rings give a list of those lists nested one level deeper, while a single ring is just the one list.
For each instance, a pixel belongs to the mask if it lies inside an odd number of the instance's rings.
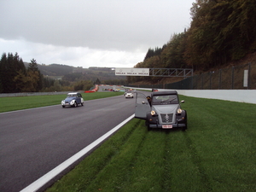
[{"label": "dark grey asphalt racetrack surface left of the white line", "polygon": [[[61,102],[61,101],[60,101]],[[17,192],[134,113],[135,99],[114,96],[0,113],[0,191]]]}]

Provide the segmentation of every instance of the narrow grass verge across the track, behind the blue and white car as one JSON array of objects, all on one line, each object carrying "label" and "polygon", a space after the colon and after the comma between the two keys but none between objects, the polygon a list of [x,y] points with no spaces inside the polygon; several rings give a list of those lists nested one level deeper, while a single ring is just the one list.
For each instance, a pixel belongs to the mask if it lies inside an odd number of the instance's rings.
[{"label": "narrow grass verge across the track, behind the blue and white car", "polygon": [[[109,96],[120,96],[123,92],[95,92],[83,93],[84,101],[100,99]],[[54,96],[14,96],[14,97],[0,97],[0,113],[15,111],[26,108],[39,108],[50,105],[61,105],[61,100],[65,99],[67,95]]]}]

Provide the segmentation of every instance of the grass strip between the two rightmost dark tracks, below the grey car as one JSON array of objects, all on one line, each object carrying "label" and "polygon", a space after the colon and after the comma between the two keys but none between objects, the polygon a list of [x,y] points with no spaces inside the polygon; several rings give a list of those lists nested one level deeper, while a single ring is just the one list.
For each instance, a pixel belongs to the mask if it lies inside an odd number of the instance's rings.
[{"label": "grass strip between the two rightmost dark tracks, below the grey car", "polygon": [[169,131],[167,134],[162,191],[207,191],[207,179],[199,172],[186,134],[187,131]]}]

